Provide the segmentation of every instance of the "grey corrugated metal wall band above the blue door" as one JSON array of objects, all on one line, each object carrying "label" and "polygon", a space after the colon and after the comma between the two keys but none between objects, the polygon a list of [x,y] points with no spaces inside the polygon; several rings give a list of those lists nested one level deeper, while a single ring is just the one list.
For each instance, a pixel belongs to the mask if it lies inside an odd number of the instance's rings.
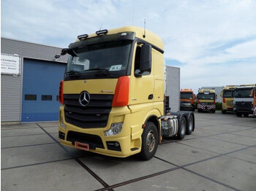
[{"label": "grey corrugated metal wall band above the blue door", "polygon": [[23,42],[15,39],[1,38],[1,53],[20,55],[23,58],[33,58],[44,61],[67,63],[68,55],[63,55],[55,61],[54,56],[61,54],[62,48],[51,47],[31,42]]}]

